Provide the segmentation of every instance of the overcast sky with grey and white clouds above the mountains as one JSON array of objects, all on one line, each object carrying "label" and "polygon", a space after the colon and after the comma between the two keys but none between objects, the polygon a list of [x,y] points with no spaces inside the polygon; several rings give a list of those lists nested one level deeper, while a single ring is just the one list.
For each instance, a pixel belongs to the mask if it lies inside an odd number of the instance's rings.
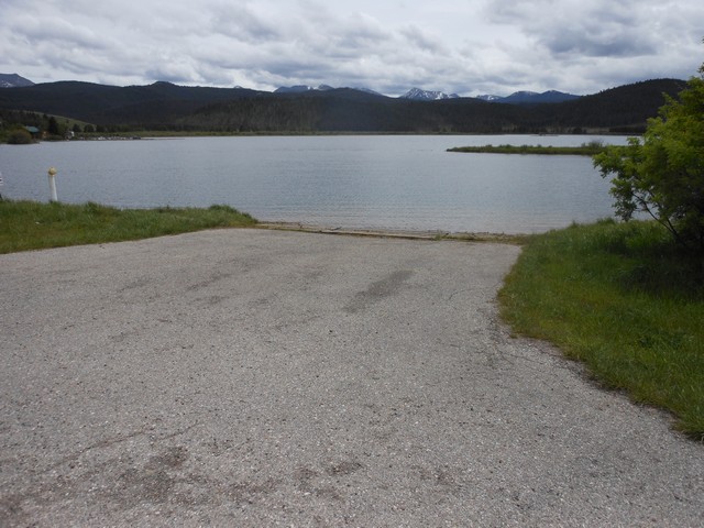
[{"label": "overcast sky with grey and white clouds above the mountains", "polygon": [[704,63],[701,0],[1,0],[0,73],[118,86],[594,94]]}]

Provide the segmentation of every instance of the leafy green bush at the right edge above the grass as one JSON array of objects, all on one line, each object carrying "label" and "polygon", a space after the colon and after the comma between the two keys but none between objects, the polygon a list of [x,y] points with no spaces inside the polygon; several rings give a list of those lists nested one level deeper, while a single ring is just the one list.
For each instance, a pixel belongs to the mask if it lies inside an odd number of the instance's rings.
[{"label": "leafy green bush at the right edge above the grass", "polygon": [[614,174],[616,213],[646,212],[682,245],[704,252],[704,65],[679,99],[666,96],[642,140],[594,156],[602,176]]}]

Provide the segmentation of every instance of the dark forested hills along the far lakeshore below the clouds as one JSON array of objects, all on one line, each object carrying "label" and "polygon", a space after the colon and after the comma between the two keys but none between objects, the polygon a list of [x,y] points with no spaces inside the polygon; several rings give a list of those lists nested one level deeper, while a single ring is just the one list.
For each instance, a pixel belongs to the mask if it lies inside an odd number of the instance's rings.
[{"label": "dark forested hills along the far lakeshore below the clouds", "polygon": [[[64,116],[108,130],[213,132],[501,133],[642,130],[685,86],[657,79],[529,107],[476,98],[415,101],[348,88],[273,94],[168,82],[116,87],[78,81],[0,90],[0,112]],[[16,114],[16,112],[15,112]]]}]

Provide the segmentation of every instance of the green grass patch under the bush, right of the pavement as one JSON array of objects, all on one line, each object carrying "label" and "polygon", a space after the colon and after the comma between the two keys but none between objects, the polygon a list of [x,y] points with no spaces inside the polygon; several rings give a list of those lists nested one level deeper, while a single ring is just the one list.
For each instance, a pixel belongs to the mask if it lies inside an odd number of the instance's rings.
[{"label": "green grass patch under the bush, right of the pavement", "polygon": [[514,331],[547,339],[607,387],[671,410],[704,440],[704,260],[654,222],[532,237],[499,293]]}]

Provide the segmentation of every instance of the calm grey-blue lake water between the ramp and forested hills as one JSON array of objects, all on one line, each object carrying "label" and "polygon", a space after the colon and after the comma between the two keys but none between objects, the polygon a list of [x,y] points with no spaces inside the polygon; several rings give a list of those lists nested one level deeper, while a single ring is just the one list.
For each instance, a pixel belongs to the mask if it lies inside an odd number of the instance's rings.
[{"label": "calm grey-blue lake water between the ramp and forested hills", "polygon": [[448,153],[485,144],[580,145],[531,135],[186,138],[0,145],[2,195],[124,208],[227,204],[263,221],[528,233],[613,215],[585,156]]}]

